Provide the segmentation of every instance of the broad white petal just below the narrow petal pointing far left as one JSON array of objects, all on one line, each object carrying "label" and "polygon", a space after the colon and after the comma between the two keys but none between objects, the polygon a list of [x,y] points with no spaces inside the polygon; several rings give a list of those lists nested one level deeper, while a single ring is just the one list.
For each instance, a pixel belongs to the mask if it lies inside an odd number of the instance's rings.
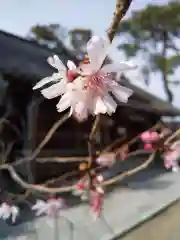
[{"label": "broad white petal just below the narrow petal pointing far left", "polygon": [[47,99],[52,99],[62,95],[66,90],[66,81],[62,79],[60,82],[41,90],[42,95]]}]

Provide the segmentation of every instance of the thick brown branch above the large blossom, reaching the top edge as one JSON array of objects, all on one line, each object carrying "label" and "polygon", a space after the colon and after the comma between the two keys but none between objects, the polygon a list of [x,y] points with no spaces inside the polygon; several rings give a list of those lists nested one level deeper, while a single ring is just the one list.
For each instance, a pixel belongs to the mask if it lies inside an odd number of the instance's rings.
[{"label": "thick brown branch above the large blossom, reaching the top edge", "polygon": [[119,26],[119,22],[125,16],[128,8],[131,5],[131,2],[132,2],[132,0],[117,0],[116,1],[116,9],[114,12],[114,18],[108,29],[108,38],[109,38],[110,42],[112,42],[112,40],[115,36],[116,30]]}]

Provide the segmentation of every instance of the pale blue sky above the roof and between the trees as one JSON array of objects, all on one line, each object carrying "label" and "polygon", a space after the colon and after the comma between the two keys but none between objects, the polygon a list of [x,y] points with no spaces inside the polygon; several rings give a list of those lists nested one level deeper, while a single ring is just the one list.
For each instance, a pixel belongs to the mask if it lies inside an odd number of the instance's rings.
[{"label": "pale blue sky above the roof and between the trees", "polygon": [[[60,23],[67,29],[90,28],[96,35],[104,35],[110,25],[116,0],[5,0],[0,8],[0,30],[26,36],[30,27],[36,24]],[[127,17],[133,10],[147,4],[164,4],[168,0],[133,0]],[[114,61],[123,61],[122,54],[113,43],[110,56]],[[136,59],[140,64],[143,59]],[[139,87],[165,98],[158,74],[153,75],[150,87],[144,85],[140,71],[130,74],[132,82]],[[175,105],[180,107],[179,90],[175,89]],[[179,96],[179,97],[178,97]]]}]

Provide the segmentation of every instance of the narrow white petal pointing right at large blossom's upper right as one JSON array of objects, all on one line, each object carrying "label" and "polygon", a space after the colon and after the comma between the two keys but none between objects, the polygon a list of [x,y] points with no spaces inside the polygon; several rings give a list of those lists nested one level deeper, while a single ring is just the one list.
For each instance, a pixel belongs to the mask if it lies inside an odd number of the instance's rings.
[{"label": "narrow white petal pointing right at large blossom's upper right", "polygon": [[102,71],[111,73],[111,72],[121,72],[126,70],[136,69],[137,65],[132,64],[131,62],[120,62],[119,64],[107,64],[102,67]]}]

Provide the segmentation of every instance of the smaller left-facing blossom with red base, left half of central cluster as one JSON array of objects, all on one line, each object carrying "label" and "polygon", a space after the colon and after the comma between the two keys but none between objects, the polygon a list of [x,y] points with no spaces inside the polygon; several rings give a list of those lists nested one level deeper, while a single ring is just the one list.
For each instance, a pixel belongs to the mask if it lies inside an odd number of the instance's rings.
[{"label": "smaller left-facing blossom with red base, left half of central cluster", "polygon": [[72,61],[68,60],[66,68],[57,55],[49,57],[47,62],[52,67],[56,68],[58,72],[52,74],[52,76],[43,78],[33,87],[33,90],[42,88],[51,83],[53,85],[42,89],[41,93],[45,98],[52,99],[61,96],[66,92],[67,84],[72,82],[77,75],[76,65]]}]

